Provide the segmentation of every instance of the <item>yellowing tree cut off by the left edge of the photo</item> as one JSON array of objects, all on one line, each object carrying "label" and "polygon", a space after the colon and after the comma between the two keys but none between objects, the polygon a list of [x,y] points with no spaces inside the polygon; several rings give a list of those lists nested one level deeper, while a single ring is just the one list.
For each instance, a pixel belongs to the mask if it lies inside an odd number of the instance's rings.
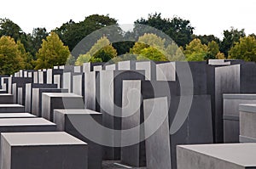
[{"label": "yellowing tree cut off by the left edge of the photo", "polygon": [[0,38],[0,75],[12,75],[24,68],[24,60],[15,39]]}]

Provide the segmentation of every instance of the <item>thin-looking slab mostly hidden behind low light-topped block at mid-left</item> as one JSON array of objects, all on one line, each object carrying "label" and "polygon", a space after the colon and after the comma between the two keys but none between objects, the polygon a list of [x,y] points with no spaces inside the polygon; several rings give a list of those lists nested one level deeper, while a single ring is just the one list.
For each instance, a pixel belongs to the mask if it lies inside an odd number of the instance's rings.
[{"label": "thin-looking slab mostly hidden behind low light-topped block at mid-left", "polygon": [[61,88],[32,88],[32,114],[42,116],[43,93],[67,93],[67,89]]}]

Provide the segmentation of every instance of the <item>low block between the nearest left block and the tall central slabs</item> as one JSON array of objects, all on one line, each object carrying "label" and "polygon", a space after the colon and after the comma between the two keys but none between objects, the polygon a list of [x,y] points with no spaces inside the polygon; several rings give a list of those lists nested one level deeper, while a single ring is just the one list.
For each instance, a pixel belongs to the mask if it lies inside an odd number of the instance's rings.
[{"label": "low block between the nearest left block and the tall central slabs", "polygon": [[[64,131],[88,144],[88,166],[102,169],[102,114],[93,110],[55,110],[54,122]],[[85,134],[84,134],[85,133]],[[94,136],[97,143],[90,140]]]}]

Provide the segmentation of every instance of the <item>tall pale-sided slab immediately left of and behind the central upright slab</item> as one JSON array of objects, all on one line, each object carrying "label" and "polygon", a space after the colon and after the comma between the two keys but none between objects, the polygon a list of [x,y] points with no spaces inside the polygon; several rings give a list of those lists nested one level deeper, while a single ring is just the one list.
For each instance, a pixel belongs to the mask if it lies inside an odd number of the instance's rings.
[{"label": "tall pale-sided slab immediately left of and behind the central upright slab", "polygon": [[[100,105],[103,126],[115,130],[121,129],[122,82],[124,80],[143,80],[144,71],[102,70],[100,72]],[[104,133],[103,133],[104,134]],[[103,159],[120,158],[120,135],[104,135],[106,140],[113,140],[117,148],[105,147]]]}]

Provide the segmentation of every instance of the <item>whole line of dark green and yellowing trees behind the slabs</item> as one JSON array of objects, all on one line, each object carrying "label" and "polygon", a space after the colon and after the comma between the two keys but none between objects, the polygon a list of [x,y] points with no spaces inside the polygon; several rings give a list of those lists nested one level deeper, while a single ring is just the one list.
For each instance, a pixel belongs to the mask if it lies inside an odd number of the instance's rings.
[{"label": "whole line of dark green and yellowing trees behind the slabs", "polygon": [[[34,28],[26,33],[9,19],[0,19],[0,75],[13,74],[16,70],[51,68],[54,65],[81,65],[84,62],[117,62],[126,59],[207,60],[245,59],[256,60],[256,36],[246,35],[244,29],[233,27],[224,30],[223,39],[214,35],[195,35],[189,20],[179,17],[162,18],[161,14],[148,14],[135,24],[152,26],[171,37],[154,33],[138,33],[140,26],[131,31],[121,31],[118,21],[108,15],[93,14],[83,21],[69,20],[55,30]],[[111,42],[111,34],[99,37],[84,54],[72,55],[71,51],[84,37],[108,25],[114,27],[116,37],[136,37],[134,41]],[[128,38],[129,39],[129,38]],[[175,42],[175,43],[174,43]],[[121,56],[121,57],[117,57]]]}]

